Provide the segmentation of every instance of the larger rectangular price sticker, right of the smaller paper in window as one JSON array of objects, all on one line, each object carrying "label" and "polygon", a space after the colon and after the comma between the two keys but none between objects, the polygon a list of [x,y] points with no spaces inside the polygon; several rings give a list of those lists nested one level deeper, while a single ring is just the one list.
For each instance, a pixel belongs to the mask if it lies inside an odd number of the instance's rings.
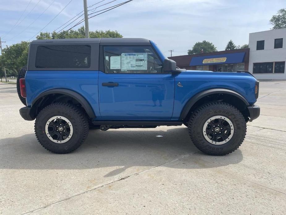
[{"label": "larger rectangular price sticker, right of the smaller paper in window", "polygon": [[147,70],[147,53],[122,53],[121,70]]}]

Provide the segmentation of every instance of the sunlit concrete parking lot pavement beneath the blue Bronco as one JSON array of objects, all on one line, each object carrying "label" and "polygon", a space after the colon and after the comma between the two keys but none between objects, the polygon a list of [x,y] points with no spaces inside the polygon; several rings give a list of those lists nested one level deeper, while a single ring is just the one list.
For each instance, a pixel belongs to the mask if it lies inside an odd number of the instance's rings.
[{"label": "sunlit concrete parking lot pavement beneath the blue Bronco", "polygon": [[0,83],[0,214],[285,214],[286,81],[261,81],[257,104],[227,156],[201,153],[185,126],[91,130],[59,155]]}]

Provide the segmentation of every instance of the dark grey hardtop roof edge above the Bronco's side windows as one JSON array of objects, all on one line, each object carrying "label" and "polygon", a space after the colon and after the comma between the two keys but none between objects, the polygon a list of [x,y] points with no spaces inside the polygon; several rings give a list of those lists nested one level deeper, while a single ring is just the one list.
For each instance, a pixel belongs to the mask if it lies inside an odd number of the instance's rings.
[{"label": "dark grey hardtop roof edge above the Bronco's side windows", "polygon": [[80,38],[80,39],[52,39],[52,40],[34,40],[32,43],[45,42],[98,42],[102,45],[117,45],[117,44],[150,44],[149,40],[144,38]]}]

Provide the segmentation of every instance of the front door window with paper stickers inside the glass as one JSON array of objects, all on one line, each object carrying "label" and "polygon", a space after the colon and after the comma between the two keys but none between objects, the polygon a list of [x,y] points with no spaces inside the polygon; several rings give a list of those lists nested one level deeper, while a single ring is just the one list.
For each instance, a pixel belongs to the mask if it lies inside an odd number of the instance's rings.
[{"label": "front door window with paper stickers inside the glass", "polygon": [[103,57],[105,73],[162,73],[151,46],[104,46]]}]

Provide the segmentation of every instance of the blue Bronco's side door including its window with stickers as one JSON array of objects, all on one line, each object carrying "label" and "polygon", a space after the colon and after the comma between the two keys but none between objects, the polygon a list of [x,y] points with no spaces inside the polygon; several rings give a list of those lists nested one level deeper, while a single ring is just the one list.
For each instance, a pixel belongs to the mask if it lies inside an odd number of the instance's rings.
[{"label": "blue Bronco's side door including its window with stickers", "polygon": [[172,74],[152,46],[103,46],[99,108],[103,119],[168,120],[173,114]]}]

